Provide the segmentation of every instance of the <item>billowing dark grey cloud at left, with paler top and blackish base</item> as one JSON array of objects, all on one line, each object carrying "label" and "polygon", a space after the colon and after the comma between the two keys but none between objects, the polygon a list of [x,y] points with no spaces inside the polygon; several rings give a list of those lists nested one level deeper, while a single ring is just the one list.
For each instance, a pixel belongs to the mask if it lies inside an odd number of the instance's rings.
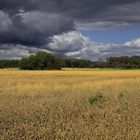
[{"label": "billowing dark grey cloud at left, with paler top and blackish base", "polygon": [[20,13],[10,18],[4,12],[1,13],[5,15],[4,23],[7,22],[5,28],[8,29],[0,32],[0,43],[40,47],[48,42],[49,36],[73,30],[72,20],[59,14],[34,11]]}]

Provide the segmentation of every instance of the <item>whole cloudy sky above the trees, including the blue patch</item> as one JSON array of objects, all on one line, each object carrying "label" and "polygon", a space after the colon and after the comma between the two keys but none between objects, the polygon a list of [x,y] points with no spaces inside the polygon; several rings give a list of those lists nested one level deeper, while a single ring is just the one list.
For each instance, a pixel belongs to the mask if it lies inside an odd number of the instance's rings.
[{"label": "whole cloudy sky above the trees, including the blue patch", "polygon": [[40,50],[96,61],[140,55],[140,0],[0,0],[0,59]]}]

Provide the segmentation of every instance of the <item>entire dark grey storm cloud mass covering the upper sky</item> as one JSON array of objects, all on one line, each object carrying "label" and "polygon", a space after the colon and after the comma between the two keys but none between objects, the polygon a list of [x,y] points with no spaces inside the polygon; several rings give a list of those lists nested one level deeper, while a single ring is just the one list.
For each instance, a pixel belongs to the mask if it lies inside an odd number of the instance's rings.
[{"label": "entire dark grey storm cloud mass covering the upper sky", "polygon": [[0,0],[0,43],[53,50],[51,37],[64,32],[140,24],[139,7],[139,0]]}]

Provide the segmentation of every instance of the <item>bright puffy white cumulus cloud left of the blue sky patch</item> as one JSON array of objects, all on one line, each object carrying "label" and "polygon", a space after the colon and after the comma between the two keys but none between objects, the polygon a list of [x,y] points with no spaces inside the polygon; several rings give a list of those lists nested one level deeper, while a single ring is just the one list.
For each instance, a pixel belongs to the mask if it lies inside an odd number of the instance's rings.
[{"label": "bright puffy white cumulus cloud left of the blue sky patch", "polygon": [[55,35],[51,38],[48,48],[56,52],[73,52],[92,45],[88,37],[80,32],[71,31],[62,35]]}]

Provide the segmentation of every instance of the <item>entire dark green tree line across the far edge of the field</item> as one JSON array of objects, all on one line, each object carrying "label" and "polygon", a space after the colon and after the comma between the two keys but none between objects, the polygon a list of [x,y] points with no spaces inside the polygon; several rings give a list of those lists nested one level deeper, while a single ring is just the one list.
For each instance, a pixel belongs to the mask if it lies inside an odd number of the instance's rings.
[{"label": "entire dark green tree line across the far edge of the field", "polygon": [[140,56],[110,57],[105,62],[64,59],[50,53],[38,52],[21,60],[0,60],[0,68],[20,68],[22,70],[60,70],[61,68],[122,68],[139,69]]}]

